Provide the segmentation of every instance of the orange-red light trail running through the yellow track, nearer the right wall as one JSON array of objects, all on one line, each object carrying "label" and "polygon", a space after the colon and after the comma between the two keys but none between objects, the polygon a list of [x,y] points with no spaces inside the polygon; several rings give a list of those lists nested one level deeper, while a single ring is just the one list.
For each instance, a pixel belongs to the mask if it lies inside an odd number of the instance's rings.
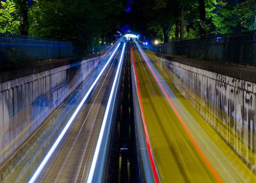
[{"label": "orange-red light trail running through the yellow track, nearer the right wall", "polygon": [[143,59],[145,60],[145,62],[147,63],[147,66],[152,74],[152,76],[154,76],[154,79],[156,80],[156,83],[158,84],[158,86],[161,88],[161,91],[164,94],[164,97],[166,97],[166,99],[168,100],[168,103],[170,104],[170,106],[172,107],[175,115],[177,116],[177,118],[179,119],[180,123],[182,124],[182,126],[184,127],[186,133],[188,134],[189,138],[191,139],[191,141],[193,142],[193,144],[196,147],[196,150],[198,150],[198,153],[201,155],[202,159],[204,159],[205,164],[208,166],[209,170],[212,172],[212,174],[214,175],[214,177],[216,178],[216,180],[218,182],[223,182],[220,175],[218,175],[217,171],[214,169],[214,167],[212,166],[212,164],[209,162],[209,160],[207,159],[206,155],[204,154],[204,152],[202,152],[201,148],[199,147],[198,143],[196,142],[195,138],[193,137],[193,135],[191,134],[191,132],[189,131],[186,123],[184,122],[184,120],[181,118],[179,111],[177,110],[177,108],[175,107],[175,105],[173,104],[172,100],[170,99],[169,95],[167,94],[166,90],[164,89],[163,85],[161,84],[161,82],[159,81],[158,77],[156,76],[153,68],[151,67],[150,63],[148,62],[148,58],[147,56],[145,56],[145,53],[143,52],[143,50],[141,49],[140,45],[135,41],[141,55],[143,56]]}]

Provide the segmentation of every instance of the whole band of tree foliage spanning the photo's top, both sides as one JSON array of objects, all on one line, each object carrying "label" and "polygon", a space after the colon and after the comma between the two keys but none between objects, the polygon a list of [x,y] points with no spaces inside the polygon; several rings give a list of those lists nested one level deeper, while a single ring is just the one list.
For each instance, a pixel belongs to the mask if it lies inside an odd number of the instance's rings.
[{"label": "whole band of tree foliage spanning the photo's top, both sides", "polygon": [[[164,42],[255,29],[255,0],[33,2],[28,6],[28,0],[2,1],[0,32],[72,40],[86,47],[113,35],[120,24],[129,24],[133,31]],[[125,3],[131,12],[124,12]]]}]

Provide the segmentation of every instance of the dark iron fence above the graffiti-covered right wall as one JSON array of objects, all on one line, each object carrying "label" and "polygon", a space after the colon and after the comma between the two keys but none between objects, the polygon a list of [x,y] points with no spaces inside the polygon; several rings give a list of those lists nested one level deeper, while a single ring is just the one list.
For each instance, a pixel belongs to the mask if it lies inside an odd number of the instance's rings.
[{"label": "dark iron fence above the graffiti-covered right wall", "polygon": [[155,45],[154,51],[202,60],[256,65],[256,31]]}]

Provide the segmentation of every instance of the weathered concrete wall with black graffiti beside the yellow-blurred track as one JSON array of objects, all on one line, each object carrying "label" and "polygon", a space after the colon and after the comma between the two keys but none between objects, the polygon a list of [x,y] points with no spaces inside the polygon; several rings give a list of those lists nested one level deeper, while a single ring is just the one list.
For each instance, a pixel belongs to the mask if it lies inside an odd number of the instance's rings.
[{"label": "weathered concrete wall with black graffiti beside the yellow-blurred track", "polygon": [[256,147],[256,83],[165,59],[162,66],[182,95],[238,154],[255,165],[256,157],[249,159],[248,150],[255,152]]}]

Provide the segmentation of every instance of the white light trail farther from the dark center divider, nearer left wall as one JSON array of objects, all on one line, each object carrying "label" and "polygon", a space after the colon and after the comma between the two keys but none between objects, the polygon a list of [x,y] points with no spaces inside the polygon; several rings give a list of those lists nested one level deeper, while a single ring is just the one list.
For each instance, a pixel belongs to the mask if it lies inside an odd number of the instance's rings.
[{"label": "white light trail farther from the dark center divider, nearer left wall", "polygon": [[36,169],[35,173],[33,174],[33,176],[31,177],[31,179],[29,180],[29,183],[33,183],[36,182],[36,179],[38,179],[38,176],[40,175],[40,173],[42,172],[42,170],[44,169],[45,165],[48,163],[49,159],[51,158],[52,154],[54,153],[54,151],[56,150],[56,148],[58,147],[58,145],[60,144],[61,139],[63,138],[63,136],[66,134],[66,132],[68,131],[68,128],[70,127],[70,125],[72,124],[72,122],[74,121],[74,118],[76,118],[77,113],[79,112],[79,110],[81,109],[81,107],[83,106],[84,102],[86,101],[86,99],[88,99],[90,93],[92,92],[94,86],[97,84],[97,82],[99,81],[100,77],[102,76],[104,70],[108,67],[111,59],[113,58],[113,56],[115,55],[115,52],[117,51],[118,47],[120,46],[120,43],[116,46],[115,51],[113,51],[113,53],[111,54],[109,60],[107,61],[106,65],[104,65],[104,67],[102,68],[99,76],[97,76],[97,78],[95,79],[95,81],[93,82],[92,86],[90,87],[90,89],[88,90],[88,92],[86,93],[86,95],[84,95],[83,100],[81,100],[79,106],[77,106],[76,111],[74,111],[73,115],[71,116],[70,120],[68,120],[67,124],[65,125],[63,131],[61,131],[60,136],[58,136],[58,138],[56,139],[56,141],[54,142],[54,144],[52,145],[51,149],[49,150],[49,152],[47,153],[47,155],[44,157],[44,160],[42,161],[42,163],[40,164],[40,166],[38,166],[38,168]]}]

